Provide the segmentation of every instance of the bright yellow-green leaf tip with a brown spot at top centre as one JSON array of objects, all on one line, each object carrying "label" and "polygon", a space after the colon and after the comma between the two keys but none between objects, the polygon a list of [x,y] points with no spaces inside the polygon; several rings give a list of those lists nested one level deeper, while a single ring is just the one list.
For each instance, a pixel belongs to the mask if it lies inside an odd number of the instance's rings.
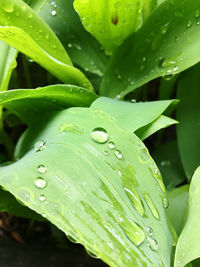
[{"label": "bright yellow-green leaf tip with a brown spot at top centre", "polygon": [[[151,1],[147,1],[146,4]],[[75,0],[81,21],[106,49],[107,54],[119,46],[141,23],[141,0]],[[148,13],[148,11],[147,11]]]}]

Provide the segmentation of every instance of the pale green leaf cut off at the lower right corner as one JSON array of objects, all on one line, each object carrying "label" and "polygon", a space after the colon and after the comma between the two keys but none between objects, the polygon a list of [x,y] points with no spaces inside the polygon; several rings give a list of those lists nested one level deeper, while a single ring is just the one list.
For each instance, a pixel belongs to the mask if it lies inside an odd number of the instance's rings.
[{"label": "pale green leaf cut off at the lower right corner", "polygon": [[176,255],[175,267],[184,266],[194,259],[200,257],[200,168],[198,168],[191,181],[189,189],[189,207],[186,224],[179,237]]}]

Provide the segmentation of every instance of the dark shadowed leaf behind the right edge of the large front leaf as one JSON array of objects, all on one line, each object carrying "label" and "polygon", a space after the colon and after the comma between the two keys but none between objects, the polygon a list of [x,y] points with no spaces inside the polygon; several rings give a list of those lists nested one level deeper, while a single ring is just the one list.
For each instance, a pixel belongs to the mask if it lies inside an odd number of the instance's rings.
[{"label": "dark shadowed leaf behind the right edge of the large front leaf", "polygon": [[162,173],[167,188],[174,188],[186,180],[175,140],[160,145],[152,153],[152,157]]}]

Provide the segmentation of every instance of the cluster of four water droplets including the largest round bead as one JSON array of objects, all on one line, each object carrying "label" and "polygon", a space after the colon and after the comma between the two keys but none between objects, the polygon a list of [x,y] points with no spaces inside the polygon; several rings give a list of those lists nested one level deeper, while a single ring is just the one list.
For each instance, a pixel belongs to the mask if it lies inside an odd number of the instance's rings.
[{"label": "cluster of four water droplets including the largest round bead", "polygon": [[[99,144],[105,144],[109,140],[107,131],[102,127],[93,129],[93,131],[91,132],[91,137],[94,142]],[[117,159],[121,160],[123,158],[122,152],[116,149],[115,143],[113,141],[109,141],[107,146],[110,150],[114,151],[114,155]],[[108,150],[104,151],[104,155],[109,155]]]}]

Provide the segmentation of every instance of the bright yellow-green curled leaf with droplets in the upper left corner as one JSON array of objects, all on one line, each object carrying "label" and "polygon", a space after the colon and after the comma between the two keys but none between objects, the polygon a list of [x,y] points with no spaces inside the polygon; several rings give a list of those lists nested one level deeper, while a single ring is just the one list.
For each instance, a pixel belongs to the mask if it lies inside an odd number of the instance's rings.
[{"label": "bright yellow-green curled leaf with droplets in the upper left corner", "polygon": [[0,39],[35,60],[64,83],[92,88],[83,73],[72,66],[53,31],[22,0],[0,1]]}]

